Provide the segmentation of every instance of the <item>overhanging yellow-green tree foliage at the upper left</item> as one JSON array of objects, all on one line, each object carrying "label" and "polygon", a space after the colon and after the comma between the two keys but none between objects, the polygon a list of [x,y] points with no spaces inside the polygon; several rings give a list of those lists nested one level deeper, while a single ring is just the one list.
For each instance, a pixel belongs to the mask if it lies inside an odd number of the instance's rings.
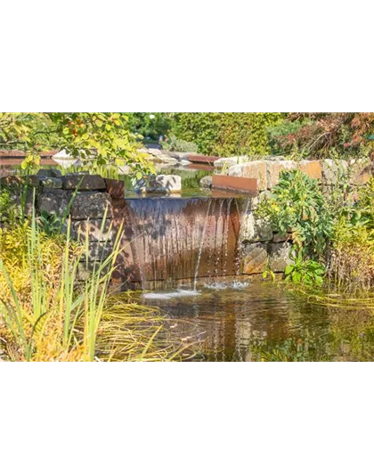
[{"label": "overhanging yellow-green tree foliage at the upper left", "polygon": [[154,173],[153,164],[138,152],[128,121],[119,113],[0,113],[0,150],[27,152],[23,168],[38,165],[41,152],[56,149],[93,167],[114,162],[129,165],[138,176]]}]

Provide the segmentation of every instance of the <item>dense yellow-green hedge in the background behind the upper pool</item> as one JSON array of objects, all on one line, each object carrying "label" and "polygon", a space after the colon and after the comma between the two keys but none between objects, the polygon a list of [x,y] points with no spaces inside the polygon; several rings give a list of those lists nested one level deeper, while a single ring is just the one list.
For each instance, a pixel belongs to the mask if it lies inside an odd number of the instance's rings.
[{"label": "dense yellow-green hedge in the background behind the upper pool", "polygon": [[177,138],[220,157],[270,153],[266,129],[286,117],[279,112],[185,112],[175,114]]}]

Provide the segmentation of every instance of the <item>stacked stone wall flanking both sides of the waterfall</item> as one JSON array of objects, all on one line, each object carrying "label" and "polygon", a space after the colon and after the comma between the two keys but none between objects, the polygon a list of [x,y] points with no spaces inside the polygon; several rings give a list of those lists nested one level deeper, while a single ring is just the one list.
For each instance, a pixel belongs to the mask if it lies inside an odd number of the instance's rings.
[{"label": "stacked stone wall flanking both sides of the waterfall", "polygon": [[[274,160],[276,159],[276,160]],[[256,218],[258,202],[269,193],[269,190],[278,184],[280,172],[300,168],[308,176],[321,180],[324,186],[336,184],[341,179],[342,171],[348,171],[348,180],[351,184],[364,184],[369,175],[362,173],[365,163],[362,160],[341,161],[339,165],[333,160],[280,160],[280,157],[266,157],[264,160],[253,160],[238,163],[240,158],[220,159],[215,161],[216,172],[224,172],[229,176],[243,176],[257,180],[258,196],[248,198],[248,211],[242,217],[240,225],[240,250],[242,252],[241,273],[261,274],[266,269],[272,272],[284,272],[290,263],[289,253],[292,247],[292,236],[280,236],[273,233],[264,219]],[[72,203],[70,215],[72,218],[72,237],[82,239],[85,232],[89,236],[89,266],[79,270],[82,280],[85,279],[93,262],[109,255],[113,239],[117,235],[119,226],[126,225],[125,190],[119,180],[104,179],[102,176],[86,174],[68,174],[61,176],[58,170],[41,169],[37,176],[6,176],[0,178],[0,184],[6,184],[12,190],[12,202],[20,207],[23,185],[28,182],[28,191],[25,195],[24,212],[31,215],[34,206],[40,216],[43,211],[48,214],[62,216],[71,200],[74,191],[82,179],[79,192]],[[103,219],[106,214],[106,222]],[[110,224],[112,225],[110,229]],[[0,223],[0,226],[2,224]],[[101,228],[103,225],[103,233]],[[123,281],[123,267],[119,262],[118,271],[114,279]]]}]

